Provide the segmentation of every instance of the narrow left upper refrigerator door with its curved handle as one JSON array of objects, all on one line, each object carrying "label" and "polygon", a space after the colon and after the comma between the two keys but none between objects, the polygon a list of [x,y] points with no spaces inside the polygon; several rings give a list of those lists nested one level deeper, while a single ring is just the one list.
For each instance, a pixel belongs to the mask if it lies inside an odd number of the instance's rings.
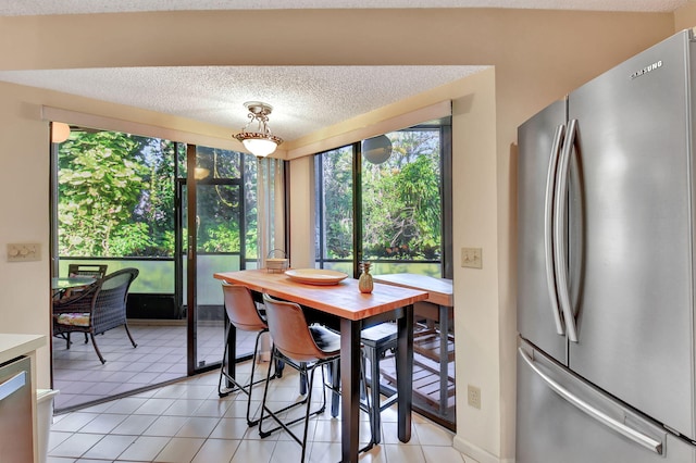
[{"label": "narrow left upper refrigerator door with its curved handle", "polygon": [[566,101],[557,101],[518,133],[518,330],[559,362],[567,349],[550,239],[564,123]]}]

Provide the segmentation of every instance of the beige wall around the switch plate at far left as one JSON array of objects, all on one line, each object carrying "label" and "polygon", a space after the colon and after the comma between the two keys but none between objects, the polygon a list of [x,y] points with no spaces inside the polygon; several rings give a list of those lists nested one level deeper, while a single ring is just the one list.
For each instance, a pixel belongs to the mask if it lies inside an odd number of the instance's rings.
[{"label": "beige wall around the switch plate at far left", "polygon": [[[49,333],[48,124],[21,92],[0,86],[0,333]],[[7,243],[41,245],[39,262],[7,262]],[[48,345],[48,343],[47,343]],[[49,385],[48,347],[37,351],[38,387]]]}]

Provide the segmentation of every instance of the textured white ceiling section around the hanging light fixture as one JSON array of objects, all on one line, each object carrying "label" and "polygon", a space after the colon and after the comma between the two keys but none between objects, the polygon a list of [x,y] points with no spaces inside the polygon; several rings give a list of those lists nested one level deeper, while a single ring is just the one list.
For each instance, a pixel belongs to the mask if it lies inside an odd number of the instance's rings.
[{"label": "textured white ceiling section around the hanging light fixture", "polygon": [[245,101],[273,105],[271,130],[286,140],[480,71],[476,66],[210,66],[5,71],[0,80],[229,127]]}]

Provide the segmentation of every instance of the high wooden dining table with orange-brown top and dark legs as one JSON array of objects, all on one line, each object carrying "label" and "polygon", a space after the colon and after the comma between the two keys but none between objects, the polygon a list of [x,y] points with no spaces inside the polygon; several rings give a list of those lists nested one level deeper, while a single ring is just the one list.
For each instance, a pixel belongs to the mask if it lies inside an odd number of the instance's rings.
[{"label": "high wooden dining table with orange-brown top and dark legs", "polygon": [[244,285],[257,293],[265,292],[296,302],[336,320],[340,329],[341,462],[358,461],[360,333],[365,327],[396,320],[398,438],[402,442],[411,439],[413,303],[427,299],[427,292],[375,283],[371,293],[363,293],[353,278],[345,278],[335,285],[311,285],[266,270],[222,272],[213,276]]}]

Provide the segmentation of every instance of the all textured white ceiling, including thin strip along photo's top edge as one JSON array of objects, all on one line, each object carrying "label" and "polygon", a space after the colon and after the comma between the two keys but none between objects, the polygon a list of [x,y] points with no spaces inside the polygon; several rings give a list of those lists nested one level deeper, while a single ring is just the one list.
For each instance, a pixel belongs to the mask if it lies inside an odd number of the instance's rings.
[{"label": "all textured white ceiling, including thin strip along photo's top edge", "polygon": [[[518,8],[669,12],[688,0],[0,0],[0,16],[173,10]],[[0,72],[10,82],[229,127],[243,103],[274,107],[287,140],[460,79],[478,66],[214,66]]]}]

